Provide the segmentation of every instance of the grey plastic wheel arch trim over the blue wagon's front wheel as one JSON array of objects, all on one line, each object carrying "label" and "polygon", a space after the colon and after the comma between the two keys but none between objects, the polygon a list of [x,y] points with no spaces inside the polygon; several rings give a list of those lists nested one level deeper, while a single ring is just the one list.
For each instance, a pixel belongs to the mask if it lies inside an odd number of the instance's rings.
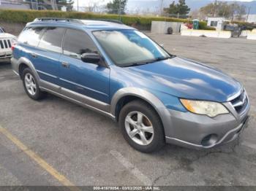
[{"label": "grey plastic wheel arch trim over the blue wagon's front wheel", "polygon": [[146,102],[148,102],[148,104],[151,104],[151,106],[153,106],[154,109],[159,114],[159,117],[161,117],[162,125],[165,128],[165,134],[172,135],[172,130],[170,128],[170,112],[168,111],[168,109],[165,107],[164,104],[162,104],[162,101],[160,101],[159,98],[157,98],[155,95],[138,87],[124,87],[118,90],[113,95],[110,104],[110,113],[113,116],[116,115],[116,106],[118,104],[118,101],[127,95],[136,96],[138,98],[145,100]]}]

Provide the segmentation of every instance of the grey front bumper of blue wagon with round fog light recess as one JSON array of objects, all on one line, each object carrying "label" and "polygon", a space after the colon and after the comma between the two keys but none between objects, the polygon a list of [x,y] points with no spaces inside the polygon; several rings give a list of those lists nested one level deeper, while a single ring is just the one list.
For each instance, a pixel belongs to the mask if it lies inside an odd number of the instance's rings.
[{"label": "grey front bumper of blue wagon with round fog light recess", "polygon": [[194,149],[208,149],[238,137],[249,121],[249,103],[239,117],[233,113],[213,118],[174,110],[169,110],[169,113],[169,125],[165,127],[167,143]]}]

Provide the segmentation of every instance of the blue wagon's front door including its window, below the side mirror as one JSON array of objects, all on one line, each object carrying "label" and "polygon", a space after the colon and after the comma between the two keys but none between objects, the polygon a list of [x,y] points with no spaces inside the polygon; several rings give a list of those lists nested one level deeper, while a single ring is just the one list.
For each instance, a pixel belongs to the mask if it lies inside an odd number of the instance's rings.
[{"label": "blue wagon's front door including its window, below the side mirror", "polygon": [[[75,95],[79,93],[94,100],[109,103],[110,69],[81,61],[80,57],[85,52],[99,53],[99,50],[85,31],[67,29],[64,35],[63,55],[60,58],[60,82],[61,87],[64,87],[61,93],[70,96],[75,92]],[[75,98],[80,97],[78,95]],[[86,98],[81,98],[80,101],[86,102]]]}]

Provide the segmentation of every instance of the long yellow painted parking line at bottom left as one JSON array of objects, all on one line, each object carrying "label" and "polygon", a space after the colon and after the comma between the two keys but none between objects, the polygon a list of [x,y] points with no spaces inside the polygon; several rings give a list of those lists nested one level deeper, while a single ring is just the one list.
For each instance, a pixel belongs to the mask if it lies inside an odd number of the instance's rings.
[{"label": "long yellow painted parking line at bottom left", "polygon": [[34,160],[37,164],[39,164],[45,171],[48,171],[48,173],[53,176],[55,179],[59,180],[61,184],[64,186],[68,186],[69,190],[72,191],[78,191],[78,187],[75,187],[72,182],[70,182],[64,175],[60,174],[58,171],[56,171],[55,168],[53,168],[51,165],[49,165],[45,160],[43,160],[39,155],[34,153],[29,147],[26,147],[25,144],[23,144],[21,141],[19,141],[15,136],[12,136],[12,134],[5,128],[2,128],[0,125],[0,133],[2,133],[4,136],[6,136],[10,141],[12,141],[13,144],[15,144],[18,148],[20,148],[26,155],[31,157],[32,160]]}]

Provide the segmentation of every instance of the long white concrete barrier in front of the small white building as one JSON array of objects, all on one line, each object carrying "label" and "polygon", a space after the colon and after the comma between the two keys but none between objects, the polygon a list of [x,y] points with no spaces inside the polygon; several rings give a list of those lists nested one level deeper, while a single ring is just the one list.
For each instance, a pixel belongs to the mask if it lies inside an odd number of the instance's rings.
[{"label": "long white concrete barrier in front of the small white building", "polygon": [[184,29],[181,31],[181,36],[206,36],[214,38],[225,38],[228,39],[231,37],[230,31],[209,31],[209,30],[193,30],[193,29]]}]

